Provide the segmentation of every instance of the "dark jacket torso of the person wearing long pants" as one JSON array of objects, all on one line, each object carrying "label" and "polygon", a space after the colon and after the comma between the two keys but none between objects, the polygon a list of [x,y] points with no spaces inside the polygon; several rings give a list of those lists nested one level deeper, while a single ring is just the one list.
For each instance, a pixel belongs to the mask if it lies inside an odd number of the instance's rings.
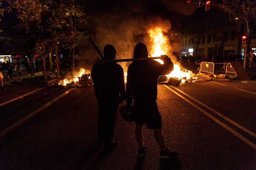
[{"label": "dark jacket torso of the person wearing long pants", "polygon": [[124,70],[121,65],[113,63],[94,64],[91,72],[95,96],[98,100],[124,100]]}]

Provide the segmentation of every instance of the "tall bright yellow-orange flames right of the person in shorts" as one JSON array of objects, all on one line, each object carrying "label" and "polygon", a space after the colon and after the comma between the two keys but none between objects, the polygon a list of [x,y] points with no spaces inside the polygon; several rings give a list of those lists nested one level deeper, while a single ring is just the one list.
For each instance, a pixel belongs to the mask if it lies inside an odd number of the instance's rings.
[{"label": "tall bright yellow-orange flames right of the person in shorts", "polygon": [[[161,55],[168,54],[168,38],[163,34],[163,30],[160,27],[152,28],[148,31],[148,34],[150,35],[150,41],[153,41],[154,43],[150,50],[150,55],[152,57],[159,57]],[[161,59],[156,60],[163,64],[163,61]],[[178,79],[183,79],[184,77],[186,77],[186,79],[189,79],[192,75],[192,71],[187,71],[186,69],[185,71],[182,71],[179,65],[174,64],[173,71],[166,76]],[[183,82],[184,81],[186,80],[183,79]]]}]

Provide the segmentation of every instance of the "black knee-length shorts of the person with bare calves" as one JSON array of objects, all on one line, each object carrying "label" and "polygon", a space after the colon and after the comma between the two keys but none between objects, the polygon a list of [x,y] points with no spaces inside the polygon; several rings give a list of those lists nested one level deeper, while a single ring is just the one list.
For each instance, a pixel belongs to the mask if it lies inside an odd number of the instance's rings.
[{"label": "black knee-length shorts of the person with bare calves", "polygon": [[156,101],[141,101],[134,99],[135,125],[146,124],[148,129],[162,128],[162,116]]}]

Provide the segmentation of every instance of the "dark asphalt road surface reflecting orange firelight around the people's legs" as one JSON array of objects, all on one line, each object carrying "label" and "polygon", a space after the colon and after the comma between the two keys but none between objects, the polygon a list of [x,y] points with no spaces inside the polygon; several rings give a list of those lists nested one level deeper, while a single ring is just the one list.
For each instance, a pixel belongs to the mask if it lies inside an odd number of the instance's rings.
[{"label": "dark asphalt road surface reflecting orange firelight around the people's legs", "polygon": [[157,103],[178,159],[160,159],[146,128],[147,152],[138,157],[134,123],[119,113],[118,145],[92,149],[93,87],[56,87],[0,107],[0,169],[256,169],[256,81],[158,85]]}]

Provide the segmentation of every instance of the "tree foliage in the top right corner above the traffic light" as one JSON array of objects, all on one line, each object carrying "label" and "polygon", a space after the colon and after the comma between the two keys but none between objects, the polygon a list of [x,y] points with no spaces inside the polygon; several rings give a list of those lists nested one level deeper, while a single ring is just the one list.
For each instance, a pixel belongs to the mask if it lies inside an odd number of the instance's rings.
[{"label": "tree foliage in the top right corner above the traffic light", "polygon": [[256,25],[255,0],[222,0],[220,8],[229,14],[230,19],[239,18],[244,22],[254,21]]}]

